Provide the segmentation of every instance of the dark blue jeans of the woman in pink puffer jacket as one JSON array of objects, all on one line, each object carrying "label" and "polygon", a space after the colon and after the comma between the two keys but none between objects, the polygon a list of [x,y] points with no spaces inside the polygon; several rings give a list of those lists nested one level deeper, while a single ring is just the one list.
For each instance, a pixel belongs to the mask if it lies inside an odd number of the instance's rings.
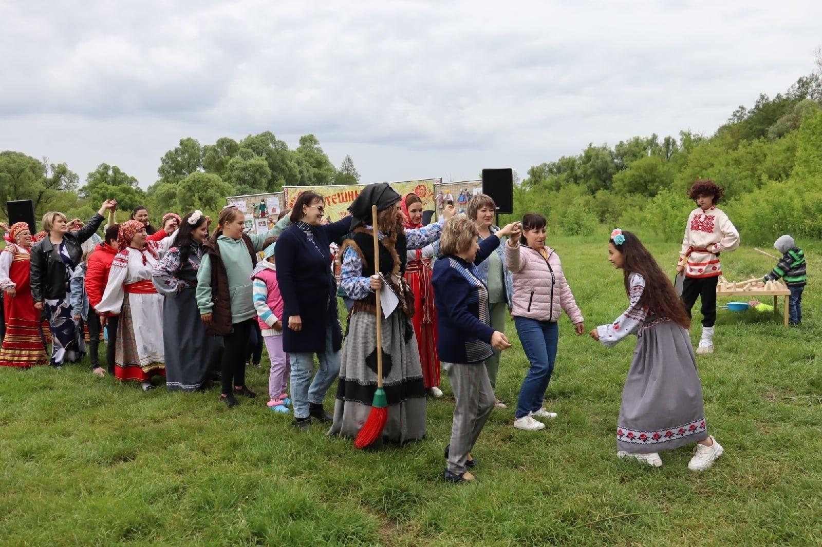
[{"label": "dark blue jeans of the woman in pink puffer jacket", "polygon": [[516,333],[522,342],[525,356],[531,368],[520,388],[520,398],[516,403],[515,417],[528,416],[529,412],[543,407],[543,397],[551,381],[556,361],[556,341],[559,329],[551,321],[538,321],[525,317],[515,317]]}]

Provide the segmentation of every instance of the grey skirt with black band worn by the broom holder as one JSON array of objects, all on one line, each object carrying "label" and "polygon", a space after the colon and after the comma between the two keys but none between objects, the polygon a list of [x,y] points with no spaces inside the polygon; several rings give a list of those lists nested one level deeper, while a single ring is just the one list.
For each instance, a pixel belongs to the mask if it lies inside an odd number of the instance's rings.
[{"label": "grey skirt with black band worn by the broom holder", "polygon": [[[382,441],[405,443],[423,439],[426,432],[425,384],[413,324],[402,310],[382,321],[383,389],[388,398],[388,421]],[[371,412],[376,391],[376,315],[361,311],[351,316],[339,367],[334,424],[328,434],[356,437]],[[384,355],[385,355],[384,354]]]}]

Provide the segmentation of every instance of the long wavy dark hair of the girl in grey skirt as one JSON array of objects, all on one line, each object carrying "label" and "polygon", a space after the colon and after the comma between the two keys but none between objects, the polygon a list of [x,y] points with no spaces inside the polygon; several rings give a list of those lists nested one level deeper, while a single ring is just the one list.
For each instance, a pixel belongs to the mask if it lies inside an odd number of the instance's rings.
[{"label": "long wavy dark hair of the girl in grey skirt", "polygon": [[630,292],[630,274],[640,274],[645,279],[645,290],[640,296],[639,306],[658,317],[669,317],[685,329],[690,329],[690,317],[677,296],[667,275],[659,267],[653,255],[645,248],[632,232],[622,231],[625,241],[617,245],[612,239],[611,245],[622,255],[622,273],[625,292]]}]

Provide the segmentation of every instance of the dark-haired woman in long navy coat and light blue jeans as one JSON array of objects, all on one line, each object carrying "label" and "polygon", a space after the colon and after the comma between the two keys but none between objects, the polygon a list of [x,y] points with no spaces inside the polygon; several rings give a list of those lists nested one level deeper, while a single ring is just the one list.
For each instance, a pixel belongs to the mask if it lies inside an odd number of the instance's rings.
[{"label": "dark-haired woman in long navy coat and light blue jeans", "polygon": [[[322,401],[339,374],[343,345],[329,244],[349,232],[351,218],[322,224],[325,212],[322,195],[302,192],[291,211],[292,224],[275,247],[277,283],[287,319],[283,321],[283,349],[291,362],[294,419],[302,430],[312,416],[333,421]],[[315,353],[320,369],[312,381]]]}]

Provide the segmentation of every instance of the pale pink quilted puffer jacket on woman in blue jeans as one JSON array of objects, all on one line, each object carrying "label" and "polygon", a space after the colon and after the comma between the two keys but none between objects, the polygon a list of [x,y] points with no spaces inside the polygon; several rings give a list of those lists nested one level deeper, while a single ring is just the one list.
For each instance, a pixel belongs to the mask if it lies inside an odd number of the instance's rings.
[{"label": "pale pink quilted puffer jacket on woman in blue jeans", "polygon": [[560,257],[545,247],[548,260],[539,251],[519,245],[505,244],[506,267],[514,274],[514,301],[511,315],[538,321],[557,321],[562,310],[571,323],[582,323],[580,308],[576,306],[568,281],[562,273]]}]

